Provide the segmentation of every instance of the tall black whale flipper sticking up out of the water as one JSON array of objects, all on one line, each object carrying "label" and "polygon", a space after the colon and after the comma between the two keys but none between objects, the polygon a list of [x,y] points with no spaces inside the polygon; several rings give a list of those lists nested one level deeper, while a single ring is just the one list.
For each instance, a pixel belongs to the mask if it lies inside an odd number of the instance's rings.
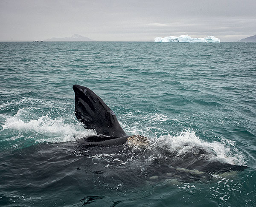
[{"label": "tall black whale flipper sticking up out of the water", "polygon": [[85,128],[97,134],[111,137],[125,136],[115,113],[92,90],[73,85],[75,92],[75,115]]}]

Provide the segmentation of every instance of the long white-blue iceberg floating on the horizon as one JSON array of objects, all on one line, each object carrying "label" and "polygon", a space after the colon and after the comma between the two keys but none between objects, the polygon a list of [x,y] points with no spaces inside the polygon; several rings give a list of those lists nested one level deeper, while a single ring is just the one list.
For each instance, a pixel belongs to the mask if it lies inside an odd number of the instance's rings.
[{"label": "long white-blue iceberg floating on the horizon", "polygon": [[220,43],[221,40],[214,37],[198,37],[192,38],[188,35],[180,35],[179,37],[176,36],[168,36],[168,37],[156,37],[154,38],[156,43]]}]

